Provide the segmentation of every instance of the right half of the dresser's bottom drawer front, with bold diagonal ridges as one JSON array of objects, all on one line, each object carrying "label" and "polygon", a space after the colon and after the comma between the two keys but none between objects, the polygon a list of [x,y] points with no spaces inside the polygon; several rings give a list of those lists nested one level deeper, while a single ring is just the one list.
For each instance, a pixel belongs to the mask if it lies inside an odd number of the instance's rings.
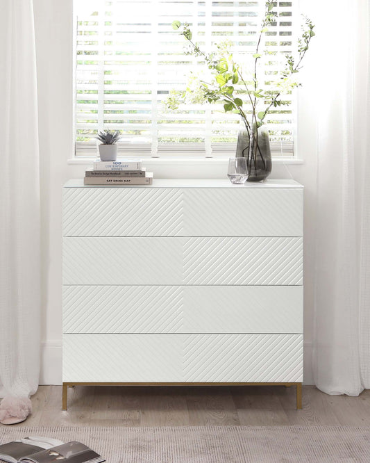
[{"label": "right half of the dresser's bottom drawer front, with bold diagonal ridges", "polygon": [[184,343],[187,382],[301,382],[302,334],[192,334]]}]

